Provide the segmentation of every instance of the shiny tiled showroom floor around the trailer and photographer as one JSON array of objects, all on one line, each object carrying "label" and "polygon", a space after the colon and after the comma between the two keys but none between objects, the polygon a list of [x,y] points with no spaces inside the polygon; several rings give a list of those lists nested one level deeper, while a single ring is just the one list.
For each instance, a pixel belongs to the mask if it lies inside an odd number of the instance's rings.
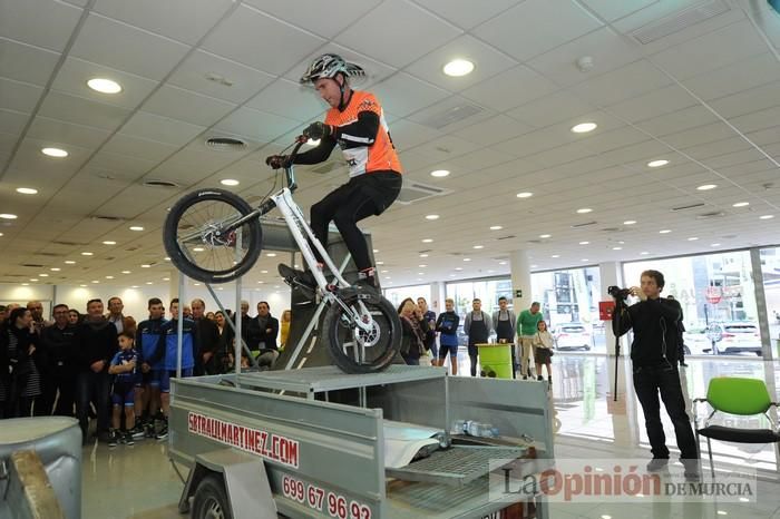
[{"label": "shiny tiled showroom floor around the trailer and photographer", "polygon": [[[468,373],[468,359],[461,373]],[[586,354],[558,354],[553,368],[553,405],[556,458],[640,459],[650,457],[642,410],[635,401],[631,371],[617,366],[617,402],[613,400],[614,360]],[[752,358],[691,359],[683,371],[683,386],[690,398],[703,396],[710,378],[742,375],[768,382],[771,394],[780,375],[780,364]],[[662,412],[663,415],[663,412]],[[674,451],[672,427],[666,421],[667,442]],[[671,434],[671,435],[670,435]],[[702,443],[705,456],[706,448]],[[752,502],[718,502],[705,499],[689,502],[653,502],[634,498],[631,502],[552,503],[550,516],[563,518],[779,518],[780,484],[778,458],[772,445],[730,445],[713,442],[715,467],[722,471],[748,468],[759,474]],[[85,519],[177,519],[177,501],[183,484],[166,457],[165,443],[139,441],[134,447],[85,448]],[[672,454],[674,458],[675,454]],[[709,470],[709,462],[705,462]],[[723,472],[724,473],[724,472]]]}]

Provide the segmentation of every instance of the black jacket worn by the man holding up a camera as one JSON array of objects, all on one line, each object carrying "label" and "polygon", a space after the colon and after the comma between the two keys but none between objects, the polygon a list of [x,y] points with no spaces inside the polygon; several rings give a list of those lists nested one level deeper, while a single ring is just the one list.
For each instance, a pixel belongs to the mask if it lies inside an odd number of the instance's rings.
[{"label": "black jacket worn by the man holding up a camera", "polygon": [[667,298],[646,300],[632,306],[618,304],[612,330],[623,335],[634,330],[631,361],[637,366],[656,366],[677,361],[677,322],[682,316],[680,303]]}]

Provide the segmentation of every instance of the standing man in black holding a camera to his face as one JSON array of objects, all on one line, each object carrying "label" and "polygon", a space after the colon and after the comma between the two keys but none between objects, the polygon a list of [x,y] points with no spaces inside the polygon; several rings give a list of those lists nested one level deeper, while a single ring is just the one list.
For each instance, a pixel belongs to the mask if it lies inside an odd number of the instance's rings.
[{"label": "standing man in black holding a camera to his face", "polygon": [[[615,335],[620,336],[628,330],[634,330],[634,342],[631,345],[634,389],[642,404],[653,453],[653,459],[647,463],[647,471],[662,470],[669,463],[666,437],[661,424],[661,393],[666,412],[674,424],[685,477],[698,478],[699,449],[685,412],[677,372],[677,322],[682,310],[676,301],[661,298],[664,277],[660,272],[643,272],[641,284],[641,288],[611,287],[610,293],[616,300],[615,319],[612,321]],[[628,294],[641,301],[627,306],[625,298]]]}]

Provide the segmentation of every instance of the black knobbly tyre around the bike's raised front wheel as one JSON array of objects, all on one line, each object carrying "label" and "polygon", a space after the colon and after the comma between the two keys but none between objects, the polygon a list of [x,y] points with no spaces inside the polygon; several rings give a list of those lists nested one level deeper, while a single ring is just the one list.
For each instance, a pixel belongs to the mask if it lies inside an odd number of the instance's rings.
[{"label": "black knobbly tyre around the bike's raised front wheel", "polygon": [[[209,214],[207,210],[209,204],[212,208],[221,208],[228,214],[220,216],[213,222],[204,222],[202,224],[187,222],[187,215],[194,208],[197,209],[193,210],[194,215],[197,215],[201,210],[206,210],[206,214]],[[257,219],[251,219],[241,227],[241,249],[243,255],[238,260],[235,260],[235,246],[206,243],[206,235],[209,229],[214,229],[221,222],[224,224],[232,218],[245,216],[252,210],[254,209],[246,200],[225,189],[199,189],[184,196],[170,208],[163,227],[163,244],[170,257],[170,262],[188,277],[203,283],[227,283],[246,274],[254,266],[262,252],[263,232]],[[185,232],[187,235],[196,237],[183,244],[179,239],[179,233]],[[203,243],[199,243],[198,238]],[[198,247],[194,247],[194,245],[198,245]],[[193,260],[197,256],[193,252],[195,248],[206,253],[201,256],[203,257],[201,262]],[[216,254],[220,254],[221,258],[224,257],[226,260],[223,261],[222,267],[216,267],[216,262],[213,262],[209,267],[207,257]],[[231,254],[234,255],[233,258],[231,258]]]}]

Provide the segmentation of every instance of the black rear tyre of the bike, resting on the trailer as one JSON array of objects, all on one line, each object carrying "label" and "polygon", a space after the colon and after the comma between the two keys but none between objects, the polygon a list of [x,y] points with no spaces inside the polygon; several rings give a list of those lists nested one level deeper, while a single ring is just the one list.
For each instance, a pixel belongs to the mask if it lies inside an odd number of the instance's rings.
[{"label": "black rear tyre of the bike, resting on the trailer", "polygon": [[[349,327],[342,320],[345,316],[343,309],[339,304],[331,304],[322,325],[322,337],[328,342],[333,364],[344,373],[378,373],[386,370],[393,363],[401,347],[401,321],[396,309],[381,294],[370,288],[345,288],[340,292],[339,297],[350,307],[359,300],[363,302],[373,316],[374,331],[372,334],[360,332],[358,335],[363,337],[363,343],[371,343],[373,333],[378,333],[378,339],[374,344],[363,349],[371,350],[370,359],[367,356],[355,360],[354,349],[359,339],[354,329]],[[350,339],[353,344],[352,353],[347,351]]]}]

